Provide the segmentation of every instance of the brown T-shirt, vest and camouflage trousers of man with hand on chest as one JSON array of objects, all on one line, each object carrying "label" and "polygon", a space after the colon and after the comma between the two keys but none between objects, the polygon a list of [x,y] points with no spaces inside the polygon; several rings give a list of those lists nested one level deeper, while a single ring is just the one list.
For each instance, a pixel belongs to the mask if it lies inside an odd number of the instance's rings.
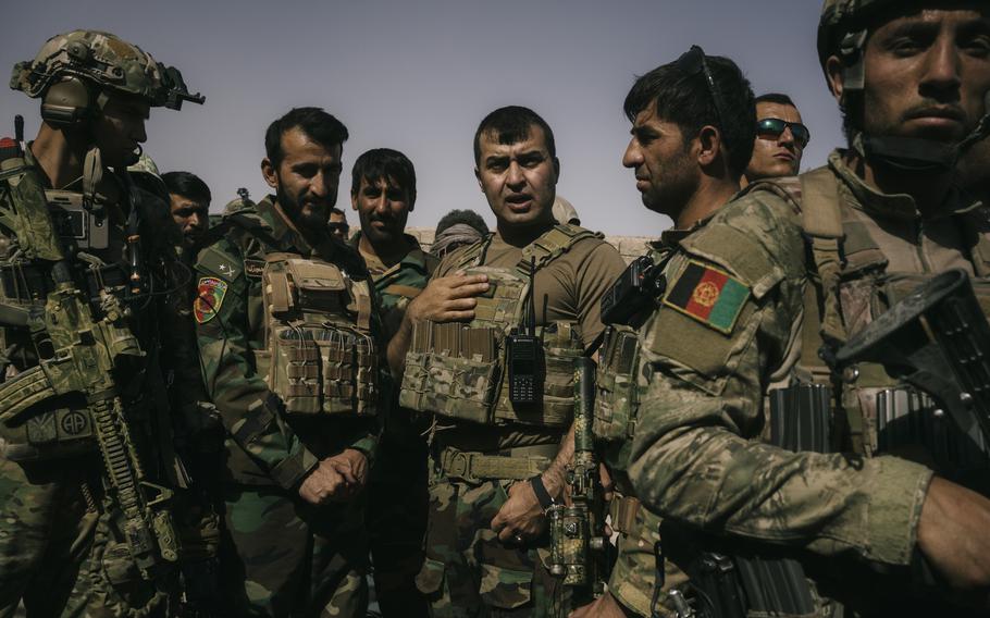
[{"label": "brown T-shirt, vest and camouflage trousers of man with hand on chest", "polygon": [[[490,284],[474,320],[417,324],[406,356],[400,404],[434,415],[426,560],[417,578],[434,616],[566,613],[568,595],[546,569],[547,541],[504,544],[491,520],[508,487],[556,455],[573,417],[573,360],[601,333],[601,297],[622,269],[599,237],[557,225],[522,249],[490,236],[447,256],[434,274],[483,273]],[[543,391],[540,403],[518,405],[505,342],[525,320],[531,277]]]}]

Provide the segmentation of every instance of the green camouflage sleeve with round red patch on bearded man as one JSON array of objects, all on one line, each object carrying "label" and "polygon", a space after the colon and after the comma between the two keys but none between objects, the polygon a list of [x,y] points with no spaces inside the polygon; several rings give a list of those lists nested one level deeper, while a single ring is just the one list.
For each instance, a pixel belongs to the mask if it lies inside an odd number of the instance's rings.
[{"label": "green camouflage sleeve with round red patch on bearded man", "polygon": [[193,312],[207,393],[234,442],[273,481],[292,489],[318,460],[285,422],[279,397],[255,366],[250,324],[260,320],[260,298],[252,307],[243,259],[225,239],[200,252],[196,270]]}]

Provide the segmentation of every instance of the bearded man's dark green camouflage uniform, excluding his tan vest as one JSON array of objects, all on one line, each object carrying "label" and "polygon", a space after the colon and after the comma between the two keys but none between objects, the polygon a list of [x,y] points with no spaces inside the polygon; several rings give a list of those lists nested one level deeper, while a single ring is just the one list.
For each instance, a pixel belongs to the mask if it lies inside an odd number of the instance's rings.
[{"label": "bearded man's dark green camouflage uniform, excluding his tan vest", "polygon": [[[289,417],[256,367],[265,257],[322,255],[286,225],[273,202],[270,196],[237,211],[242,224],[205,248],[196,264],[200,299],[205,292],[210,296],[195,311],[203,380],[227,431],[225,594],[237,615],[359,616],[368,598],[363,499],[313,507],[298,487],[319,460],[344,448],[360,449],[370,460],[378,421]],[[327,242],[333,263],[362,280],[360,258]]]}]

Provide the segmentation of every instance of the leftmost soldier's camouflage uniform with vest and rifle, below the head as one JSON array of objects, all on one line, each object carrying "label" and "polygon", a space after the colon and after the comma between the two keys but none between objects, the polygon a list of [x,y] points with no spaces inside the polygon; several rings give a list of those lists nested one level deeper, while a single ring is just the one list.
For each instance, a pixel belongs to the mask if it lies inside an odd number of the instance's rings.
[{"label": "leftmost soldier's camouflage uniform with vest and rifle, below the head", "polygon": [[178,281],[168,196],[109,170],[52,190],[29,148],[4,139],[0,158],[0,615],[172,615],[188,479],[159,361],[184,337],[149,293]]}]

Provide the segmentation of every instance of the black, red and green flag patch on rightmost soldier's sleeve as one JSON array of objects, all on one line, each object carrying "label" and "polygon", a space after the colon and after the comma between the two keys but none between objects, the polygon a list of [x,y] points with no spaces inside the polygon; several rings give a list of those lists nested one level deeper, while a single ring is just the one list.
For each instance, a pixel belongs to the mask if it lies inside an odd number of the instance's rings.
[{"label": "black, red and green flag patch on rightmost soldier's sleeve", "polygon": [[750,288],[738,279],[691,261],[664,298],[664,305],[728,335],[748,297]]}]

